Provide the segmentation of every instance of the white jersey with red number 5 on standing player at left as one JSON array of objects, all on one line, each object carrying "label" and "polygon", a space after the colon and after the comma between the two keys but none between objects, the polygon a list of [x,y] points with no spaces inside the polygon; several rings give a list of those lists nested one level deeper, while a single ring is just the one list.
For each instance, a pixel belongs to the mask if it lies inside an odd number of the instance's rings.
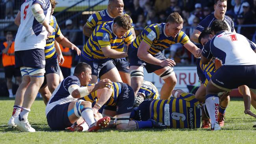
[{"label": "white jersey with red number 5 on standing player at left", "polygon": [[48,22],[50,21],[50,13],[52,10],[50,0],[25,0],[20,6],[20,26],[15,38],[15,52],[45,48],[48,32],[45,27],[34,18],[31,7],[35,3],[42,6],[46,20],[48,20]]}]

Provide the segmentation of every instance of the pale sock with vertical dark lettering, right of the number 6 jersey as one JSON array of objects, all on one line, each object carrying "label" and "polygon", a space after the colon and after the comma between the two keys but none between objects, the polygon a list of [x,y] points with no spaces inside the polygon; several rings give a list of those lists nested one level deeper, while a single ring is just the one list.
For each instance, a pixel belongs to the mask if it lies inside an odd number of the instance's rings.
[{"label": "pale sock with vertical dark lettering, right of the number 6 jersey", "polygon": [[205,104],[211,119],[211,128],[214,127],[214,123],[217,122],[218,109],[219,109],[219,97],[217,94],[207,94]]}]

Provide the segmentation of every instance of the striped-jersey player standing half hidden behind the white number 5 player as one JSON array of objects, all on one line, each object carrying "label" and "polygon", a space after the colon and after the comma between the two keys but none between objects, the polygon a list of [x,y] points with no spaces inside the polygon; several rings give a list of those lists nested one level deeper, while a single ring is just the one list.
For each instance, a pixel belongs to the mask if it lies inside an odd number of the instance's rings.
[{"label": "striped-jersey player standing half hidden behind the white number 5 player", "polygon": [[[59,61],[63,63],[64,58],[61,53],[59,44],[71,48],[72,50],[76,50],[77,54],[80,55],[81,51],[78,47],[76,47],[74,44],[72,44],[67,38],[65,38],[61,30],[58,26],[58,23],[56,21],[56,18],[52,15],[54,13],[54,9],[56,5],[58,4],[56,0],[50,0],[52,4],[52,11],[50,14],[50,21],[49,24],[54,28],[54,32],[52,35],[48,36],[48,39],[46,40],[46,46],[45,46],[45,80],[41,88],[39,89],[39,92],[41,93],[43,100],[45,104],[48,102],[50,96],[52,95],[52,92],[56,89],[56,87],[59,85],[59,82],[63,80],[61,70],[59,68]],[[56,42],[57,41],[57,42]],[[58,57],[57,54],[58,53]],[[59,61],[57,60],[59,59]],[[50,91],[49,91],[50,90]]]}]

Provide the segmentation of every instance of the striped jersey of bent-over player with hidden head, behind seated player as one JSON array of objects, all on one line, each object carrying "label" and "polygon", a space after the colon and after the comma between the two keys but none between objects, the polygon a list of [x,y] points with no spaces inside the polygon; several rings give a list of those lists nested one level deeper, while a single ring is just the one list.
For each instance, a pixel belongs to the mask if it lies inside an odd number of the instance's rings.
[{"label": "striped jersey of bent-over player with hidden head, behind seated player", "polygon": [[[113,93],[111,94],[109,100],[105,103],[105,105],[114,106],[117,103],[117,97],[121,94],[122,85],[121,83],[112,82],[111,89],[113,89]],[[97,91],[91,92],[89,95],[84,96],[82,100],[89,101],[92,103],[97,102]]]}]

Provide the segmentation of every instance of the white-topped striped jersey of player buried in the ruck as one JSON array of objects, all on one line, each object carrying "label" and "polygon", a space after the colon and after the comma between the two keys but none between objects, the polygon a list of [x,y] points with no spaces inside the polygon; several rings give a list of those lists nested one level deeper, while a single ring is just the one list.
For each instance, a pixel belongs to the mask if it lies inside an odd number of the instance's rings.
[{"label": "white-topped striped jersey of player buried in the ruck", "polygon": [[152,98],[154,100],[160,99],[158,89],[153,83],[149,81],[143,81],[138,93],[143,94],[145,96],[145,99],[148,99],[148,98]]}]

